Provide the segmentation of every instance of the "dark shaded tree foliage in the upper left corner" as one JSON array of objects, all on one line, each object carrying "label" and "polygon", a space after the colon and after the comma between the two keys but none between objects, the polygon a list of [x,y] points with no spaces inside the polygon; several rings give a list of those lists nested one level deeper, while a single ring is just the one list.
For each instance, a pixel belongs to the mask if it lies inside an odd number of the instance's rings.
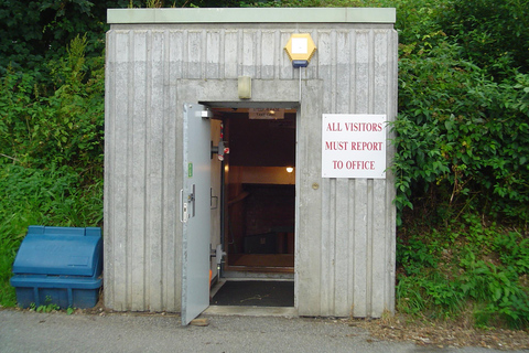
[{"label": "dark shaded tree foliage in the upper left corner", "polygon": [[[108,30],[109,8],[126,8],[130,0],[28,0],[0,2],[0,75],[8,67],[34,72],[47,82],[45,65],[66,54],[66,44],[86,33],[87,54],[100,56]],[[138,2],[138,0],[134,0]]]}]

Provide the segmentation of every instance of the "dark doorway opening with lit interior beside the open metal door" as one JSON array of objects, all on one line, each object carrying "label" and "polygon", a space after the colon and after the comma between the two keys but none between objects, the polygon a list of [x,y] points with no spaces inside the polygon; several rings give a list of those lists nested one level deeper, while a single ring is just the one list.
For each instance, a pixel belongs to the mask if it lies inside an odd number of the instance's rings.
[{"label": "dark doorway opening with lit interior beside the open metal door", "polygon": [[[225,147],[215,306],[294,306],[296,110],[214,108]],[[218,290],[218,291],[217,291]]]}]

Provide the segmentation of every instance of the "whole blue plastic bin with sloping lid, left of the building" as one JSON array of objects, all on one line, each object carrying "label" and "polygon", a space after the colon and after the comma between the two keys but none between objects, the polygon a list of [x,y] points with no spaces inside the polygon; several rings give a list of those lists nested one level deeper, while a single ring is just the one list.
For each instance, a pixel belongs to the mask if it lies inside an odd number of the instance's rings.
[{"label": "whole blue plastic bin with sloping lid, left of the building", "polygon": [[102,285],[98,227],[30,226],[13,263],[19,307],[95,307]]}]

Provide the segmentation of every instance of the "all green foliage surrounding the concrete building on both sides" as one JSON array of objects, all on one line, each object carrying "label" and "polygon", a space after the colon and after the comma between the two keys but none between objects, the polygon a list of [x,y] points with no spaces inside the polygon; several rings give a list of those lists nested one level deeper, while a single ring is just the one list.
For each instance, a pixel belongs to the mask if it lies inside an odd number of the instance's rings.
[{"label": "all green foliage surrounding the concrete building on both sides", "polygon": [[30,224],[102,222],[106,9],[395,7],[397,307],[527,327],[529,0],[0,4],[0,306]]}]

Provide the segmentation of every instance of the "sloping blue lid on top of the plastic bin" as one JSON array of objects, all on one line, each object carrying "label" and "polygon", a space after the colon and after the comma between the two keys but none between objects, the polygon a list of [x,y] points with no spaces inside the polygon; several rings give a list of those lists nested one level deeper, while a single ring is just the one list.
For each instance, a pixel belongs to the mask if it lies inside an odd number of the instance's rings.
[{"label": "sloping blue lid on top of the plastic bin", "polygon": [[13,263],[13,274],[100,275],[101,229],[30,226]]}]

